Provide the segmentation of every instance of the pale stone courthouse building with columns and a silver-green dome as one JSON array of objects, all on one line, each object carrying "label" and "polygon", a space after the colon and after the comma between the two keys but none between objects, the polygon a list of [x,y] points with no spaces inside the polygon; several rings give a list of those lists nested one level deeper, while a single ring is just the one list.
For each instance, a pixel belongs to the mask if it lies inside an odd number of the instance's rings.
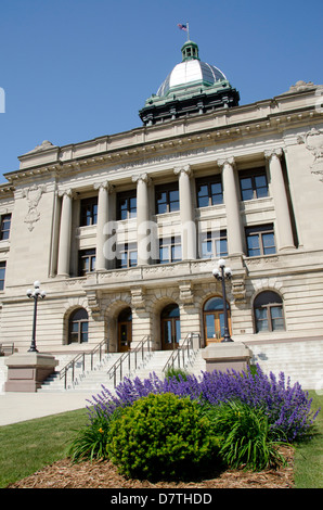
[{"label": "pale stone courthouse building with columns and a silver-green dome", "polygon": [[20,156],[0,186],[0,342],[29,348],[35,280],[42,353],[210,345],[224,306],[234,342],[322,340],[321,100],[298,81],[238,105],[188,41],[140,127]]}]

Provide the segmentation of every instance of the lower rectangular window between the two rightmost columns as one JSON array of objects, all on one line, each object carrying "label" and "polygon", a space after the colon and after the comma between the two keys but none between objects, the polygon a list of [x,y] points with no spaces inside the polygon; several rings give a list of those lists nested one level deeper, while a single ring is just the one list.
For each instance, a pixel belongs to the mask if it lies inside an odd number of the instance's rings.
[{"label": "lower rectangular window between the two rightmost columns", "polygon": [[276,253],[273,225],[246,228],[248,257]]}]

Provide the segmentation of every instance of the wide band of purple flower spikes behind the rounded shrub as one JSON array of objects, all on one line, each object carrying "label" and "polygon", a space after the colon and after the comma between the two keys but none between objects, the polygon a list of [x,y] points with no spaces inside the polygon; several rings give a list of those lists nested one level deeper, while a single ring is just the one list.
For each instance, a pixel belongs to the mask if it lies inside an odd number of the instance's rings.
[{"label": "wide band of purple flower spikes behind the rounded shrub", "polygon": [[320,409],[311,410],[312,399],[299,383],[290,385],[289,378],[281,372],[267,375],[257,365],[254,372],[249,368],[243,372],[202,372],[199,377],[186,375],[184,379],[159,379],[152,373],[143,381],[139,378],[125,378],[109,392],[102,385],[102,392],[90,401],[90,421],[106,417],[119,408],[131,406],[135,400],[150,394],[173,393],[180,397],[190,397],[202,406],[218,406],[221,403],[240,400],[251,408],[262,408],[270,426],[281,441],[293,443],[309,433]]}]

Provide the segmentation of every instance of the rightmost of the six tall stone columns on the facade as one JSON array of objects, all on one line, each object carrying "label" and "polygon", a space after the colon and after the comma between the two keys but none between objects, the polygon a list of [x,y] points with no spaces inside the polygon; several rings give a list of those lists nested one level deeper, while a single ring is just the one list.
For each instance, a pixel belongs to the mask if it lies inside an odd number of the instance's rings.
[{"label": "rightmost of the six tall stone columns on the facade", "polygon": [[266,151],[269,161],[270,182],[276,215],[275,239],[277,251],[295,248],[289,207],[281,165],[282,149]]}]

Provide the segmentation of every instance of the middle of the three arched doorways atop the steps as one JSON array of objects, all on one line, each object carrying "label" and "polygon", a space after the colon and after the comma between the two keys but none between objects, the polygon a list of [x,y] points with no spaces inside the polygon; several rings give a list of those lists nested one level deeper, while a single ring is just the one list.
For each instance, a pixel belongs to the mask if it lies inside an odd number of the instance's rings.
[{"label": "middle of the three arched doorways atop the steps", "polygon": [[162,348],[178,348],[181,337],[180,309],[178,305],[167,305],[160,314]]}]

